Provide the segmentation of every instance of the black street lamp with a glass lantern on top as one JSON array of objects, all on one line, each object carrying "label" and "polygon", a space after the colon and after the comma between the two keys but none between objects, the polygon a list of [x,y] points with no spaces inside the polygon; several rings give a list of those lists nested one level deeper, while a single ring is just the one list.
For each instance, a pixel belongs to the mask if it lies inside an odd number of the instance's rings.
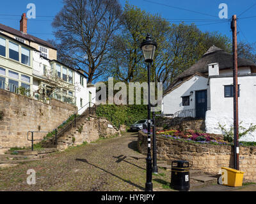
[{"label": "black street lamp with a glass lantern on top", "polygon": [[148,154],[147,154],[147,182],[145,185],[145,191],[153,191],[152,184],[152,158],[151,158],[151,136],[150,136],[150,68],[154,59],[157,44],[152,40],[149,34],[147,34],[146,40],[141,43],[141,50],[144,55],[145,62],[148,63]]}]

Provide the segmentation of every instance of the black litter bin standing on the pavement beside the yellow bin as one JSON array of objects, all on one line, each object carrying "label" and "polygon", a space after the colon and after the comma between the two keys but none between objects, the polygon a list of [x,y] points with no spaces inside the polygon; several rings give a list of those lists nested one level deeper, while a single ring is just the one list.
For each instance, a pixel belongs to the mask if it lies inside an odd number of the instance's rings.
[{"label": "black litter bin standing on the pavement beside the yellow bin", "polygon": [[173,161],[170,187],[178,191],[189,191],[189,162]]}]

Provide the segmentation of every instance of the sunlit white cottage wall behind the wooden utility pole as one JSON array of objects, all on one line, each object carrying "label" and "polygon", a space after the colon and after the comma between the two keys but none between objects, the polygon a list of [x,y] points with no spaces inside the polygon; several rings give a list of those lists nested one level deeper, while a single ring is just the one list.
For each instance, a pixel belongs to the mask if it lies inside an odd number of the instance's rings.
[{"label": "sunlit white cottage wall behind the wooden utility pole", "polygon": [[[207,133],[221,134],[218,122],[229,129],[233,126],[233,98],[224,97],[224,85],[233,84],[232,77],[210,79],[211,110],[206,112],[205,126]],[[238,77],[240,97],[238,98],[239,122],[241,126],[249,128],[256,125],[256,76]],[[243,141],[256,142],[256,132],[248,133]]]}]

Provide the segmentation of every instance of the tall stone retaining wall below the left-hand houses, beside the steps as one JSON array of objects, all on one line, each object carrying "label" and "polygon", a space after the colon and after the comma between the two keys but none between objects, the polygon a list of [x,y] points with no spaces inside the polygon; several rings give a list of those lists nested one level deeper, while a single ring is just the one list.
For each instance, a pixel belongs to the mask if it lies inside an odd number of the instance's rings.
[{"label": "tall stone retaining wall below the left-hand houses, beside the steps", "polygon": [[[77,107],[52,99],[51,105],[0,89],[0,152],[28,147],[28,131],[52,131],[77,111]],[[36,139],[44,134],[37,134]]]}]

